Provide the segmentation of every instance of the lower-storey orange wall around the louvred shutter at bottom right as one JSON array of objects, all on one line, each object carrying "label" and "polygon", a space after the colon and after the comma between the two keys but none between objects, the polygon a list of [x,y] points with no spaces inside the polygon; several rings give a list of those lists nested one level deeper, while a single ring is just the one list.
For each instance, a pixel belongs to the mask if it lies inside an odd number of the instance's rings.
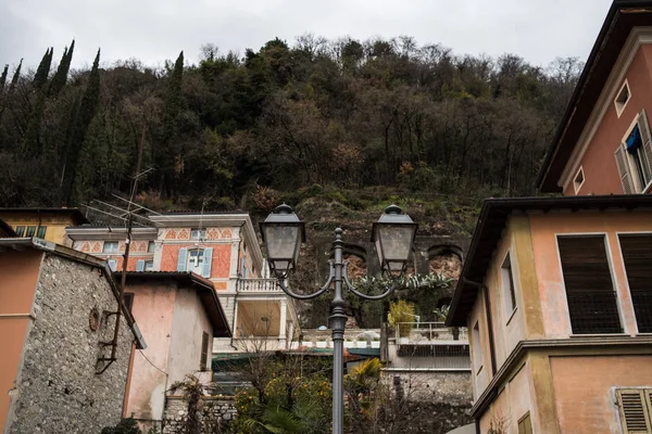
[{"label": "lower-storey orange wall around the louvred shutter at bottom right", "polygon": [[652,386],[652,356],[551,357],[562,433],[619,433],[613,387]]}]

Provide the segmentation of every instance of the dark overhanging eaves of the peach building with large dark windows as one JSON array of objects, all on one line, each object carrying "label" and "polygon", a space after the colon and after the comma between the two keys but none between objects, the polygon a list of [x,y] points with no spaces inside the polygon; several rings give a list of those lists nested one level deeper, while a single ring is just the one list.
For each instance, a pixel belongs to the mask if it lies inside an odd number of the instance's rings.
[{"label": "dark overhanging eaves of the peach building with large dark windows", "polygon": [[503,235],[510,215],[514,212],[553,210],[599,210],[606,209],[649,209],[652,210],[652,195],[603,195],[603,196],[564,196],[564,197],[521,197],[488,199],[482,204],[466,261],[451,302],[447,326],[466,327],[466,317],[471,312],[482,285],[493,252]]}]

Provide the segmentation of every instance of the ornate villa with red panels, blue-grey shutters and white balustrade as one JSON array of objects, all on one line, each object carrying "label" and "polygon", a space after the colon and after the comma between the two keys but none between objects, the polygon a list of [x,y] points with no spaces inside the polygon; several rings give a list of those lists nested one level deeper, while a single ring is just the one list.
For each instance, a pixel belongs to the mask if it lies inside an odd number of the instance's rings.
[{"label": "ornate villa with red panels, blue-grey shutters and white balustrade", "polygon": [[[248,214],[166,213],[149,216],[152,227],[133,231],[129,271],[191,271],[213,285],[233,337],[215,339],[213,353],[233,353],[264,340],[285,349],[299,330],[292,301],[269,279]],[[122,270],[125,228],[67,228],[75,250]]]}]

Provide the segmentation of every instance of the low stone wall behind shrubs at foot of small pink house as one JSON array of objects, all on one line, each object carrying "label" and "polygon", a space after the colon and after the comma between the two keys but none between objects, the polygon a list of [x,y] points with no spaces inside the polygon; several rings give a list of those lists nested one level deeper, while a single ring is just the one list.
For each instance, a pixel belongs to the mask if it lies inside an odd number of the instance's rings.
[{"label": "low stone wall behind shrubs at foot of small pink house", "polygon": [[[205,397],[200,401],[199,420],[202,433],[218,433],[217,426],[225,430],[236,418],[236,406],[233,397]],[[178,396],[165,399],[163,417],[163,434],[181,434],[188,418],[188,400]]]}]

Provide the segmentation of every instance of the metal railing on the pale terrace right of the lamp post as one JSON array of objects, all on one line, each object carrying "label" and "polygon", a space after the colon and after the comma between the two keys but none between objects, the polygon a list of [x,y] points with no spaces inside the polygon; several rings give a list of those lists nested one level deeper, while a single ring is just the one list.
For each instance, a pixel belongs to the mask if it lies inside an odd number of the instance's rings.
[{"label": "metal railing on the pale terrace right of the lamp post", "polygon": [[443,322],[399,322],[394,327],[397,343],[411,345],[467,343],[466,328],[446,327]]}]

